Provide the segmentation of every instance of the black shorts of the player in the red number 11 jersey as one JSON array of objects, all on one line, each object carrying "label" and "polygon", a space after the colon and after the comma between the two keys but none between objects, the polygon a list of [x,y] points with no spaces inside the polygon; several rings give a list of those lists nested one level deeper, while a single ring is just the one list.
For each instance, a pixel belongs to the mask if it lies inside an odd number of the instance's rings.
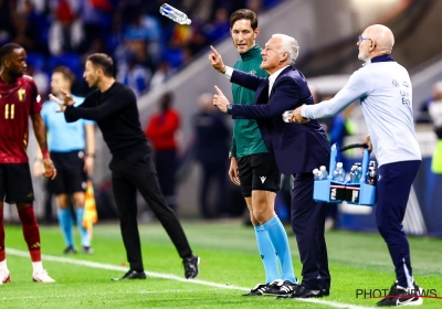
[{"label": "black shorts of the player in the red number 11 jersey", "polygon": [[34,201],[29,163],[0,163],[0,199],[9,204]]}]

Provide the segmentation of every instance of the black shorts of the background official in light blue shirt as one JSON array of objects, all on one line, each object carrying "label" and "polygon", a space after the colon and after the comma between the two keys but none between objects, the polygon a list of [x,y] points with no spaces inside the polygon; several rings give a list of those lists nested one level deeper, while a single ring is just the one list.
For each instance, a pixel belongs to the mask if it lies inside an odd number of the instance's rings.
[{"label": "black shorts of the background official in light blue shirt", "polygon": [[51,152],[51,159],[56,169],[56,178],[50,181],[52,192],[57,195],[86,191],[84,151]]}]

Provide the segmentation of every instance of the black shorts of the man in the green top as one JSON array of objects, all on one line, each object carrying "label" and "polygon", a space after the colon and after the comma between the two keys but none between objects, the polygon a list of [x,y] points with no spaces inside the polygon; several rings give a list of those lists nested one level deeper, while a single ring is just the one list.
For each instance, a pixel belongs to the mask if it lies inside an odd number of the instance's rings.
[{"label": "black shorts of the man in the green top", "polygon": [[238,158],[241,191],[244,198],[253,190],[276,192],[280,190],[281,172],[271,153],[256,153]]}]

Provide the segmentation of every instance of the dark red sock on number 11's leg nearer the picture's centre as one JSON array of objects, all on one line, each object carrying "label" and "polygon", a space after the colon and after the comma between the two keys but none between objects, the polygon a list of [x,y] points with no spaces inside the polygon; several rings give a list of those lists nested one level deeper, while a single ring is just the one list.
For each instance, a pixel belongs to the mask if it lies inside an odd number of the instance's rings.
[{"label": "dark red sock on number 11's leg nearer the picture's centre", "polygon": [[[29,253],[31,254],[32,262],[41,262],[40,249],[40,230],[36,223],[34,210],[32,204],[19,210],[19,216],[23,230],[24,241],[28,244]],[[4,232],[3,232],[4,235]],[[0,235],[1,236],[1,235]],[[4,236],[3,236],[4,239]],[[3,241],[4,242],[4,241]]]}]

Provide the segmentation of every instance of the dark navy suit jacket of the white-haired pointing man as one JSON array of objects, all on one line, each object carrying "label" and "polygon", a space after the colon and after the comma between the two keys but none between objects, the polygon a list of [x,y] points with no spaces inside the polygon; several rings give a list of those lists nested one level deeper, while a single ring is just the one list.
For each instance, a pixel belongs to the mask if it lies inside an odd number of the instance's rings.
[{"label": "dark navy suit jacket of the white-haired pointing man", "polygon": [[277,76],[269,97],[269,78],[238,70],[230,82],[256,92],[255,105],[233,105],[233,118],[256,119],[269,151],[284,174],[312,172],[329,164],[330,143],[317,120],[304,125],[284,122],[282,114],[314,104],[304,75],[291,66]]}]

